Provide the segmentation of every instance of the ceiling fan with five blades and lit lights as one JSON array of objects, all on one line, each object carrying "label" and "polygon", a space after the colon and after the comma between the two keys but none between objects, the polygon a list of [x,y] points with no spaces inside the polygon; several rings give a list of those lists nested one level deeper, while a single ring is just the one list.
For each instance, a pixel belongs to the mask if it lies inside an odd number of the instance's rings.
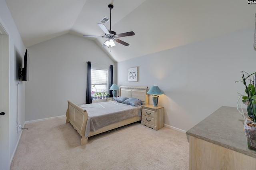
[{"label": "ceiling fan with five blades and lit lights", "polygon": [[86,36],[84,35],[84,37],[94,37],[94,38],[108,38],[108,40],[106,40],[102,46],[110,46],[110,47],[113,47],[115,46],[116,44],[114,43],[115,42],[118,42],[122,45],[125,45],[125,46],[128,46],[129,44],[122,41],[122,40],[119,40],[117,38],[120,38],[120,37],[126,37],[126,36],[134,36],[134,32],[131,31],[131,32],[125,32],[125,33],[121,33],[121,34],[116,34],[116,32],[112,31],[111,30],[111,10],[114,8],[114,6],[112,4],[109,4],[108,5],[108,8],[110,9],[110,30],[108,30],[106,28],[106,26],[102,23],[98,23],[98,26],[103,30],[103,32],[105,33],[105,36]]}]

